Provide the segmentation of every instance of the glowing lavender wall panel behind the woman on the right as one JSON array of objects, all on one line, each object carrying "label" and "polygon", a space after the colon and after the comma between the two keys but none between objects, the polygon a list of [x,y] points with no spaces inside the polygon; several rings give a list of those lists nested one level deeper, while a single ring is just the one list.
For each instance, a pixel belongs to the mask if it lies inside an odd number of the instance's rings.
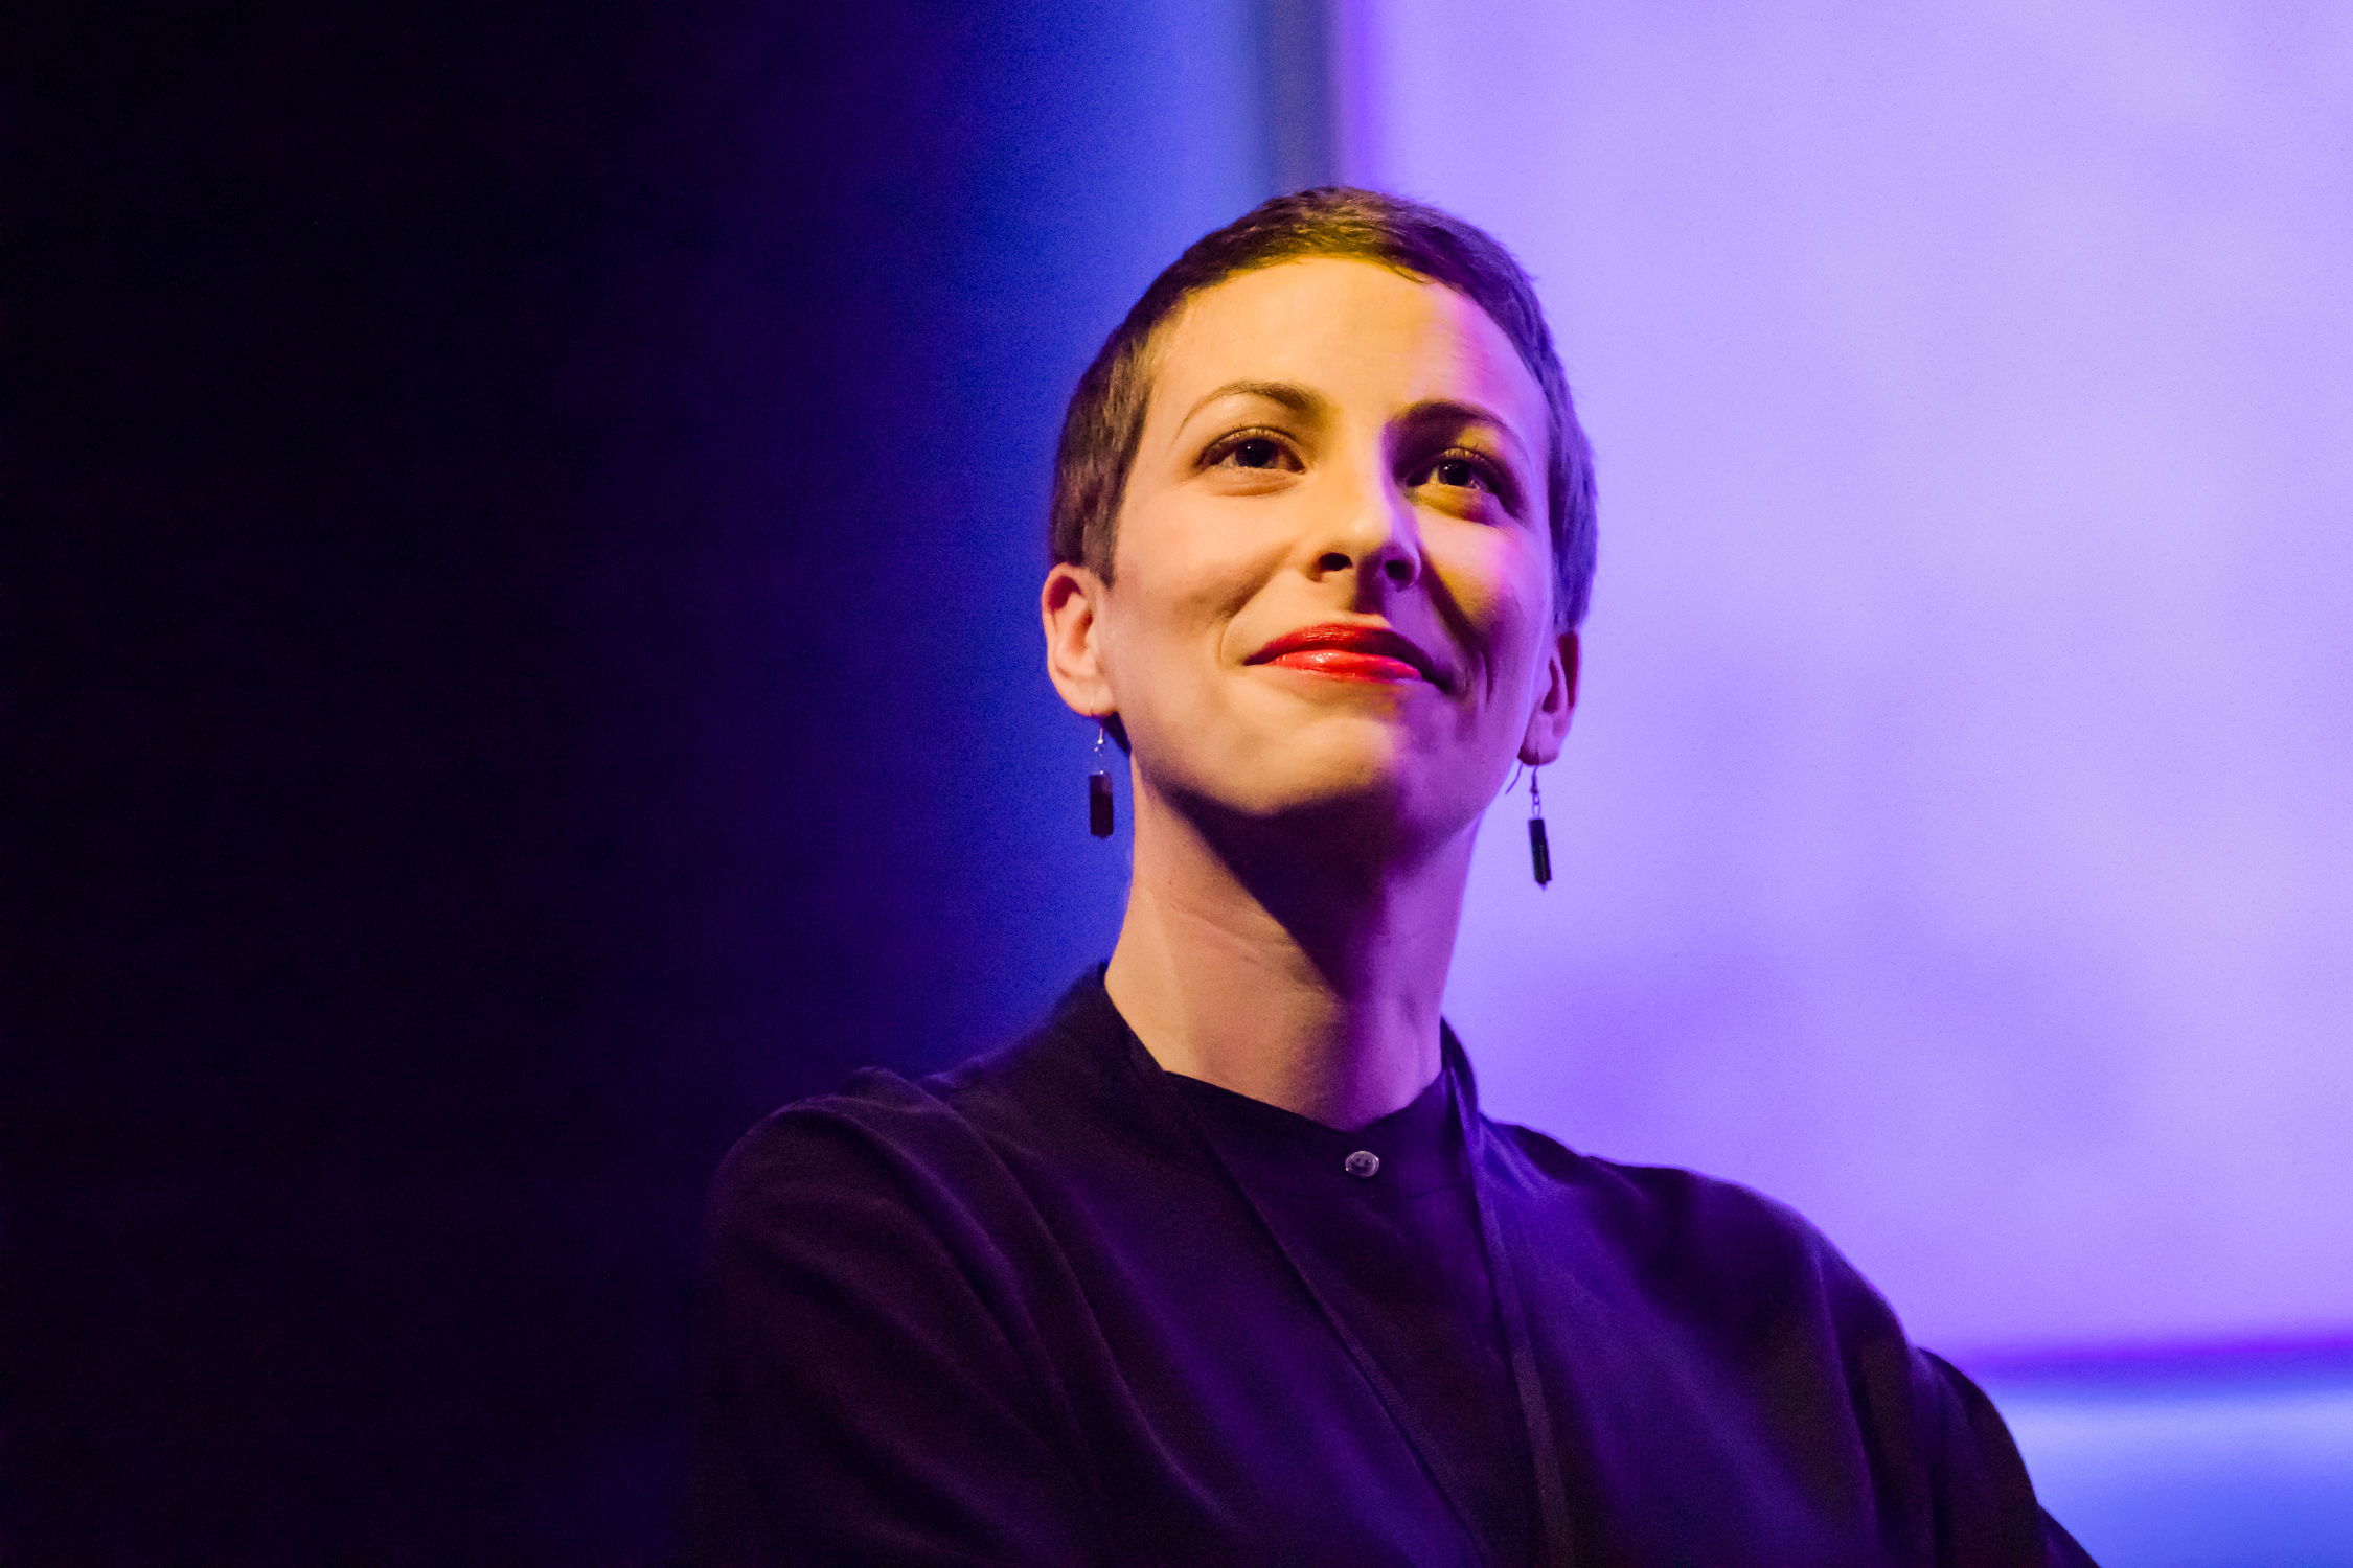
[{"label": "glowing lavender wall panel behind the woman on the right", "polygon": [[1958,1352],[2353,1326],[2353,24],[1346,7],[1341,172],[1600,449],[1489,1105],[1753,1182]]}]

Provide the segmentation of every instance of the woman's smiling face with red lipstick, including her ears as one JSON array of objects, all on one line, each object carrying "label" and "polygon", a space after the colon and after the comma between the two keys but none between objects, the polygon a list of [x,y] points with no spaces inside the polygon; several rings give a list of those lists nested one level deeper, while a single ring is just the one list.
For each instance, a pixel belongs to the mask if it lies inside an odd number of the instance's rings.
[{"label": "woman's smiling face with red lipstick, including her ears", "polygon": [[1544,393],[1461,294],[1231,277],[1160,334],[1111,583],[1047,581],[1056,684],[1162,799],[1452,837],[1567,729],[1544,475]]}]

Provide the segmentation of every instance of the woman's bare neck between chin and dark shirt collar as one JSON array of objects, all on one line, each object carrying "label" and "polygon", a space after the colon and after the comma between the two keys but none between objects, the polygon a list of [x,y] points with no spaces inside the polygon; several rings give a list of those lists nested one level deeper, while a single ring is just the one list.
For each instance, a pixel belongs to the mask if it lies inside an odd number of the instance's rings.
[{"label": "woman's bare neck between chin and dark shirt collar", "polygon": [[[1438,1077],[1473,827],[1402,863],[1205,827],[1141,778],[1104,985],[1169,1072],[1355,1128]],[[1322,835],[1337,839],[1344,835]]]}]

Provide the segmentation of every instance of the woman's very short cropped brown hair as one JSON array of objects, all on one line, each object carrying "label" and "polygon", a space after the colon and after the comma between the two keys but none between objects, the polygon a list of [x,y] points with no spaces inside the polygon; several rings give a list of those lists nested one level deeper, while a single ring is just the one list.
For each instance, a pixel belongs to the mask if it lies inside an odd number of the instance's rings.
[{"label": "woman's very short cropped brown hair", "polygon": [[1593,592],[1593,447],[1577,423],[1569,378],[1553,353],[1537,287],[1494,235],[1454,214],[1379,190],[1320,186],[1278,195],[1226,228],[1195,240],[1127,320],[1104,341],[1078,378],[1054,451],[1049,545],[1056,562],[1089,567],[1111,581],[1111,548],[1127,496],[1127,473],[1144,440],[1153,395],[1153,339],[1202,289],[1238,273],[1339,256],[1372,261],[1421,282],[1440,282],[1485,310],[1544,388],[1546,498],[1551,508],[1555,621],[1574,630]]}]

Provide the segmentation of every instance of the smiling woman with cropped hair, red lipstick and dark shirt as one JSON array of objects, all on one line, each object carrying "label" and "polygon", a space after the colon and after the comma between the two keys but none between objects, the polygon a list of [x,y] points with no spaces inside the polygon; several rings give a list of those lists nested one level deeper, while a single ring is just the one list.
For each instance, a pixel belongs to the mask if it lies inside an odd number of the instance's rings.
[{"label": "smiling woman with cropped hair, red lipstick and dark shirt", "polygon": [[708,1561],[2082,1561],[1793,1213],[1478,1114],[1480,813],[1577,701],[1591,456],[1527,277],[1362,190],[1082,378],[1047,668],[1132,750],[1111,961],[713,1194]]}]

